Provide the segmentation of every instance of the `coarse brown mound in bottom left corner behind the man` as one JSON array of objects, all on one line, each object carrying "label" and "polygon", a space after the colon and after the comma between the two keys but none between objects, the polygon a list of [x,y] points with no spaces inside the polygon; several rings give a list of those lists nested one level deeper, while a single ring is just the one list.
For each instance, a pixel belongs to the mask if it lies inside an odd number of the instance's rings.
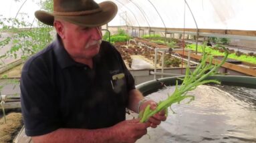
[{"label": "coarse brown mound in bottom left corner behind the man", "polygon": [[21,113],[11,112],[0,118],[0,143],[13,142],[13,139],[19,133],[23,126]]}]

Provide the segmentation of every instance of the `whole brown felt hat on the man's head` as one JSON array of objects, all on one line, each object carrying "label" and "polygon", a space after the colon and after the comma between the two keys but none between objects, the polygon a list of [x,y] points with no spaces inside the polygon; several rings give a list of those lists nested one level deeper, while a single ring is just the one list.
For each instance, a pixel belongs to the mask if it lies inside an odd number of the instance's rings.
[{"label": "whole brown felt hat on the man's head", "polygon": [[111,21],[117,11],[112,1],[98,4],[93,0],[53,0],[53,13],[35,11],[35,17],[47,25],[53,25],[57,17],[83,27],[96,27]]}]

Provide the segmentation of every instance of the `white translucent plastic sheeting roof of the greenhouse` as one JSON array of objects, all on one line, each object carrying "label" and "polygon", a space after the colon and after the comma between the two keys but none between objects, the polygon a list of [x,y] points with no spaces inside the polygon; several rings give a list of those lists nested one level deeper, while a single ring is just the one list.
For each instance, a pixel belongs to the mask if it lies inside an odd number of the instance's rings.
[{"label": "white translucent plastic sheeting roof of the greenhouse", "polygon": [[[1,0],[0,15],[14,18],[25,0]],[[27,13],[30,23],[39,9],[28,0],[19,13]],[[100,3],[103,0],[96,0]],[[166,27],[197,29],[237,29],[256,31],[255,0],[110,0],[118,5],[118,15],[110,26]],[[193,19],[197,21],[197,26]],[[20,18],[21,15],[18,15]],[[185,25],[184,25],[185,23]]]}]

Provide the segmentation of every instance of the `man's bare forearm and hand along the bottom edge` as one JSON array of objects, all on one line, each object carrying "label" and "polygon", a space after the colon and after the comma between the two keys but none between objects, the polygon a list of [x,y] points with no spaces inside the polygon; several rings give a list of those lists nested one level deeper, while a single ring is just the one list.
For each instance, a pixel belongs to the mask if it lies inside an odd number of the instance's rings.
[{"label": "man's bare forearm and hand along the bottom edge", "polygon": [[147,133],[150,122],[140,123],[139,119],[125,120],[110,128],[95,130],[77,128],[59,128],[48,134],[33,136],[33,142],[111,142],[111,143],[134,143]]}]

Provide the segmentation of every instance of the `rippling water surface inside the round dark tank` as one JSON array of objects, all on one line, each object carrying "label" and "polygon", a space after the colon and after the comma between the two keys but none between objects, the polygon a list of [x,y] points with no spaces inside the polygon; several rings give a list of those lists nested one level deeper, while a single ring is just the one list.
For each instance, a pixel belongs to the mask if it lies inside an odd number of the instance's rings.
[{"label": "rippling water surface inside the round dark tank", "polygon": [[[160,101],[174,86],[146,98]],[[166,122],[148,129],[142,142],[256,142],[256,90],[237,86],[199,86],[195,101],[172,105]]]}]

